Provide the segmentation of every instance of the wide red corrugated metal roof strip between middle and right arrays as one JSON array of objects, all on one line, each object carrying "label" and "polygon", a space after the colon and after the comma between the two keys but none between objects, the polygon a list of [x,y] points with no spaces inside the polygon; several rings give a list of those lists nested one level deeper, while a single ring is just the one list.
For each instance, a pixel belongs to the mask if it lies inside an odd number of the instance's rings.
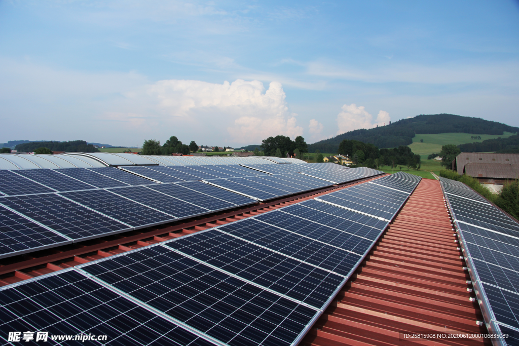
[{"label": "wide red corrugated metal roof strip between middle and right arrays", "polygon": [[438,181],[422,179],[301,345],[483,345],[401,340],[400,331],[485,333]]}]

